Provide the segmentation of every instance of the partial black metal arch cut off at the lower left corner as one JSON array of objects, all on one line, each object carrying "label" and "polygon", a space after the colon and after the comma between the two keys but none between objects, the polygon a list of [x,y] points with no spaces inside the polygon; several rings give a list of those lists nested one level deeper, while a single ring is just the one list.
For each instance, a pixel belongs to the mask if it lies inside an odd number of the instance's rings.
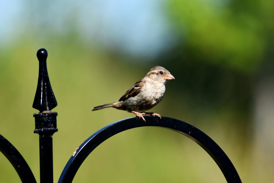
[{"label": "partial black metal arch cut off at the lower left corner", "polygon": [[29,165],[18,150],[2,135],[0,135],[0,151],[11,162],[23,183],[36,183]]}]

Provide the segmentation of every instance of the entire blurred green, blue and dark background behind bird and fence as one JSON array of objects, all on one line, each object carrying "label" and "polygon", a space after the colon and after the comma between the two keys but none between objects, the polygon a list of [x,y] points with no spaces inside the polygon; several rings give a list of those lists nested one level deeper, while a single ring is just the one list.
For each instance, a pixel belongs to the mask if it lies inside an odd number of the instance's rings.
[{"label": "entire blurred green, blue and dark background behind bird and fence", "polygon": [[[242,182],[274,180],[274,1],[0,1],[0,133],[39,182],[32,108],[36,52],[57,98],[54,182],[74,150],[133,114],[114,102],[156,65],[176,78],[153,112],[188,122],[225,151]],[[0,154],[0,182],[20,182]],[[74,182],[226,182],[195,142],[144,127],[96,148]]]}]

